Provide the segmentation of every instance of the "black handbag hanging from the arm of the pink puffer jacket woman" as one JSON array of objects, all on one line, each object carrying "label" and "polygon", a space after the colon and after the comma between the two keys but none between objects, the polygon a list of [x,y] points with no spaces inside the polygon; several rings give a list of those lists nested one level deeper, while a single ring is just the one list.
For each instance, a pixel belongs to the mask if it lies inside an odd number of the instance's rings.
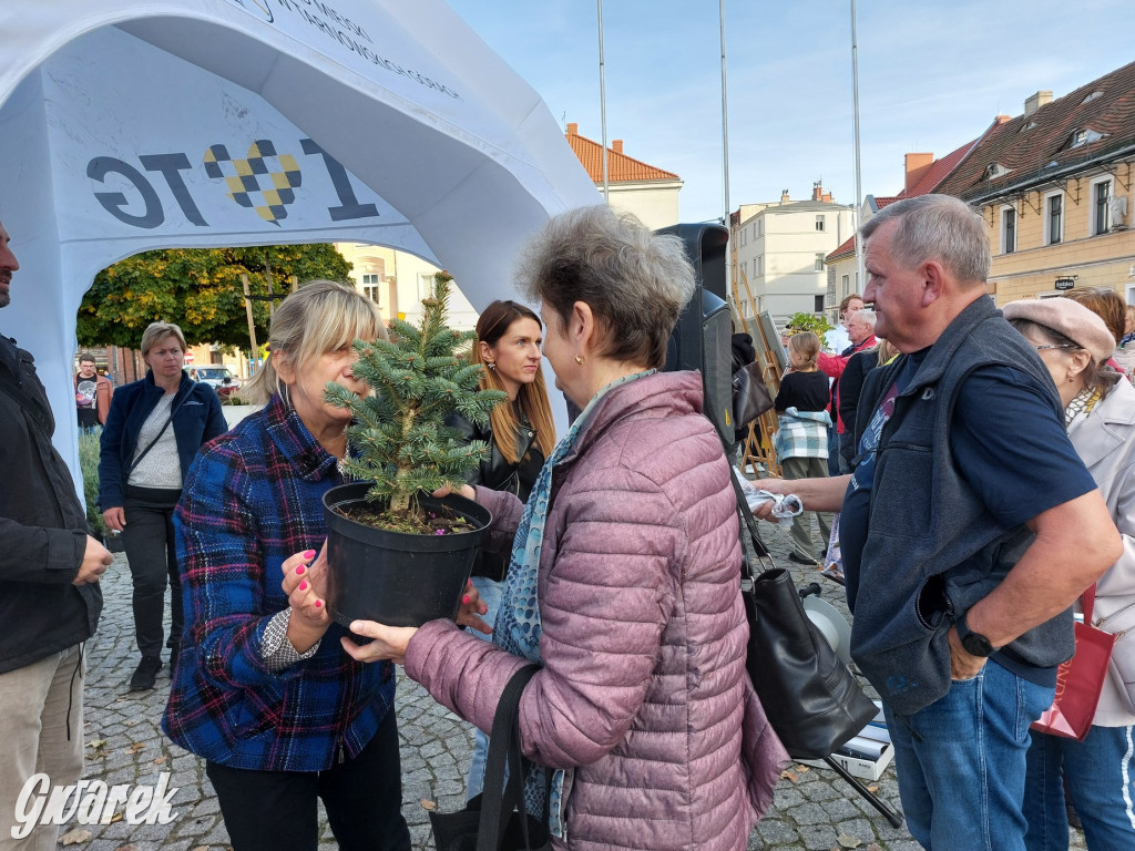
[{"label": "black handbag hanging from the arm of the pink puffer jacket woman", "polygon": [[[532,764],[521,756],[516,721],[520,696],[539,669],[538,665],[522,667],[501,694],[489,736],[485,791],[463,810],[429,814],[437,851],[546,851],[552,848],[548,790],[545,789],[543,818],[535,818],[524,809],[524,777]],[[508,767],[507,783],[505,765]]]}]

